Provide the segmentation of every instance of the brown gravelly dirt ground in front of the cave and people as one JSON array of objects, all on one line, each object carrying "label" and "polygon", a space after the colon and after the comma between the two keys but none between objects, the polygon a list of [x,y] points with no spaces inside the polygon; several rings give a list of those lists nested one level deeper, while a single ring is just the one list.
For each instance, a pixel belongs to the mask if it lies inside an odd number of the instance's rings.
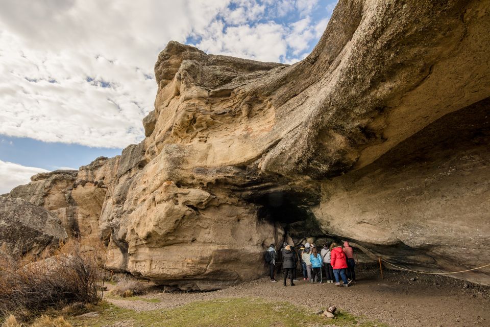
[{"label": "brown gravelly dirt ground in front of the cave and people", "polygon": [[158,298],[160,302],[108,300],[122,308],[146,311],[174,308],[198,300],[261,297],[289,301],[312,312],[333,305],[393,327],[490,326],[490,288],[454,278],[385,271],[385,278],[381,279],[379,271],[372,268],[359,271],[357,284],[348,288],[325,283],[311,285],[303,278],[296,284],[284,287],[279,278],[278,283],[262,278],[203,293],[168,293],[150,287],[149,293],[141,297]]}]

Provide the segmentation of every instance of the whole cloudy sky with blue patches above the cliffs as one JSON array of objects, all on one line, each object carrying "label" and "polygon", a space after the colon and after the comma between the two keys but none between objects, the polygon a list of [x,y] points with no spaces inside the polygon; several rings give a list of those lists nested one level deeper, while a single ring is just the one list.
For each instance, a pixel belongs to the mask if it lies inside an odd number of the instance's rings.
[{"label": "whole cloudy sky with blue patches above the cliffs", "polygon": [[169,40],[292,63],[336,0],[0,0],[0,194],[143,139]]}]

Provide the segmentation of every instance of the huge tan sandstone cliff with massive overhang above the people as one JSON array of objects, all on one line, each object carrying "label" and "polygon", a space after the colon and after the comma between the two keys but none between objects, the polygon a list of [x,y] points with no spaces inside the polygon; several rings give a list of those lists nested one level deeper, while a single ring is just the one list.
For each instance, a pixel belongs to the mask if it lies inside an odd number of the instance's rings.
[{"label": "huge tan sandstone cliff with massive overhang above the people", "polygon": [[490,263],[489,29],[486,1],[346,0],[291,66],[168,43],[144,141],[69,191],[82,239],[191,290],[262,276],[269,243],[306,238],[416,270]]}]

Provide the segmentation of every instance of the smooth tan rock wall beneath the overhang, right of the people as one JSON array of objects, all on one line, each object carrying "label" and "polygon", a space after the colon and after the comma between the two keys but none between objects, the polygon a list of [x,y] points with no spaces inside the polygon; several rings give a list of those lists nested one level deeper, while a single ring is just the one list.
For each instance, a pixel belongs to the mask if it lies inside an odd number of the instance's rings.
[{"label": "smooth tan rock wall beneath the overhang, right of the people", "polygon": [[[312,208],[322,229],[416,270],[490,262],[489,113],[490,99],[450,113],[373,164],[322,182]],[[488,270],[456,276],[488,284]]]}]

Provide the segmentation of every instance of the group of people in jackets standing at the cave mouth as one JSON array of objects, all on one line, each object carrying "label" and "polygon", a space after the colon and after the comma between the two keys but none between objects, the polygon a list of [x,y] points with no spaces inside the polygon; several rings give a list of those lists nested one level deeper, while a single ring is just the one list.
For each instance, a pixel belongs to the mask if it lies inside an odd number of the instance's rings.
[{"label": "group of people in jackets standing at the cave mouth", "polygon": [[[298,252],[296,252],[294,247],[286,245],[280,252],[282,255],[284,286],[287,286],[288,276],[291,286],[295,286],[295,282],[299,282],[299,279],[297,279],[298,262],[301,264],[303,280],[309,281],[311,284],[315,282],[322,284],[323,278],[326,278],[327,283],[334,283],[335,281],[337,286],[348,287],[351,283],[356,283],[354,251],[349,242],[344,242],[344,247],[337,245],[335,242],[330,245],[324,244],[320,252],[318,252],[314,244],[310,243],[301,244]],[[269,246],[264,257],[265,262],[269,265],[271,282],[276,283],[274,272],[278,263],[278,253],[274,244]],[[340,284],[340,281],[343,284]]]}]

